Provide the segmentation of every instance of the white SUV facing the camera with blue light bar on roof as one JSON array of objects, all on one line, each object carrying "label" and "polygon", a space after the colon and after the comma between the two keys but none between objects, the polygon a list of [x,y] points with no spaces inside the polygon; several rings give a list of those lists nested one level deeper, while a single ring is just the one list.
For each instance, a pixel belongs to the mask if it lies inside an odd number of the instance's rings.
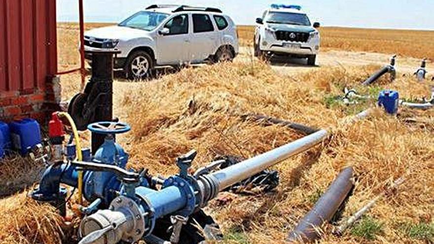
[{"label": "white SUV facing the camera with blue light bar on roof", "polygon": [[255,56],[285,55],[307,58],[315,65],[320,50],[320,33],[298,5],[272,4],[262,18],[256,19],[254,35]]}]

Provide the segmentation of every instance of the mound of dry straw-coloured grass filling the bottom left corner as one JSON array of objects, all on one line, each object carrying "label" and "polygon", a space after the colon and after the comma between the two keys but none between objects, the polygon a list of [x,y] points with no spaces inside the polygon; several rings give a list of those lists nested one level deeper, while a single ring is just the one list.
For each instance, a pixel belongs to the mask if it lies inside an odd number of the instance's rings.
[{"label": "mound of dry straw-coloured grass filling the bottom left corner", "polygon": [[0,244],[60,244],[62,220],[25,193],[0,200]]}]

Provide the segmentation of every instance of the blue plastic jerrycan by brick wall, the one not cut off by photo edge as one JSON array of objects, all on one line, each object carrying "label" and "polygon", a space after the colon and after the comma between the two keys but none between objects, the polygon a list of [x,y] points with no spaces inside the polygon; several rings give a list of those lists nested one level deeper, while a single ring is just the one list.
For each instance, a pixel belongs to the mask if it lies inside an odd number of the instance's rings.
[{"label": "blue plastic jerrycan by brick wall, the one not cut off by photo edge", "polygon": [[13,148],[26,155],[41,143],[40,126],[34,119],[17,120],[9,124]]}]

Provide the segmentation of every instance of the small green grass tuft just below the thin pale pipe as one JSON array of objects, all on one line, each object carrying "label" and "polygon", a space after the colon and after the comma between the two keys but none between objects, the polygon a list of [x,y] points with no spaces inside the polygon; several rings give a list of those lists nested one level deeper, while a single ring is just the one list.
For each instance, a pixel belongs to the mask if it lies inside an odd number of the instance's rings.
[{"label": "small green grass tuft just below the thin pale pipe", "polygon": [[364,217],[351,228],[350,233],[367,240],[375,240],[376,236],[383,233],[383,224],[372,217]]}]

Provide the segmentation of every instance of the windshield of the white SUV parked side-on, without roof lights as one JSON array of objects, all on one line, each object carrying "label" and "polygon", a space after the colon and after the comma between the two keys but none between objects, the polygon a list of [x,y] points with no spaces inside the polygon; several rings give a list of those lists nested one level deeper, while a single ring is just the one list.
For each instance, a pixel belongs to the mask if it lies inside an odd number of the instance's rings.
[{"label": "windshield of the white SUV parked side-on, without roof lights", "polygon": [[119,26],[152,31],[167,17],[169,14],[141,11],[124,20]]}]

